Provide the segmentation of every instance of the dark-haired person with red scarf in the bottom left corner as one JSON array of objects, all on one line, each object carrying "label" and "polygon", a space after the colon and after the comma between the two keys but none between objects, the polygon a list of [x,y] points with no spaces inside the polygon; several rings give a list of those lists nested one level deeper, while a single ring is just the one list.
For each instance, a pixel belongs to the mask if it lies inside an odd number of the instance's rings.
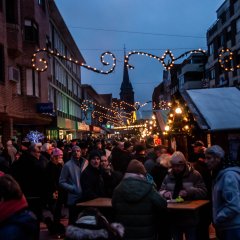
[{"label": "dark-haired person with red scarf in the bottom left corner", "polygon": [[36,216],[29,211],[19,184],[3,172],[0,172],[0,199],[0,239],[37,240]]}]

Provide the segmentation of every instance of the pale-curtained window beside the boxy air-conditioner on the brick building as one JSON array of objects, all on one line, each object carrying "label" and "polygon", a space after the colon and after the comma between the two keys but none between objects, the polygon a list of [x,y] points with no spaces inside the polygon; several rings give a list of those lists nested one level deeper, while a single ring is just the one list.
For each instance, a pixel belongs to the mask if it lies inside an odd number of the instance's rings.
[{"label": "pale-curtained window beside the boxy air-conditioner on the brick building", "polygon": [[33,69],[26,70],[27,95],[39,97],[38,72]]}]

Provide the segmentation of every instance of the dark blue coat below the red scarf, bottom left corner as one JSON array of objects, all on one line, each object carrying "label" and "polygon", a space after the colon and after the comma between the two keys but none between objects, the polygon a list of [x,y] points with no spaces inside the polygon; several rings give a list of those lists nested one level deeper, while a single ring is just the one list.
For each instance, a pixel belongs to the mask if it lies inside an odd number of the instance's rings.
[{"label": "dark blue coat below the red scarf, bottom left corner", "polygon": [[28,210],[16,212],[0,223],[0,239],[37,240],[39,228],[36,217]]}]

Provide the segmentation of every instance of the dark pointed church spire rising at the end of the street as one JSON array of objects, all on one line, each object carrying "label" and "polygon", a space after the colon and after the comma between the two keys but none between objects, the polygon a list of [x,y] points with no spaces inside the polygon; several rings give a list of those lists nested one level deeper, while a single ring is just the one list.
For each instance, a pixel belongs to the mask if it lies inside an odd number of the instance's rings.
[{"label": "dark pointed church spire rising at the end of the street", "polygon": [[[124,58],[125,58],[125,55],[126,55],[126,49],[124,46]],[[123,67],[123,81],[122,81],[120,90],[121,90],[120,99],[129,104],[134,104],[134,91],[129,79],[128,67],[125,62]]]}]

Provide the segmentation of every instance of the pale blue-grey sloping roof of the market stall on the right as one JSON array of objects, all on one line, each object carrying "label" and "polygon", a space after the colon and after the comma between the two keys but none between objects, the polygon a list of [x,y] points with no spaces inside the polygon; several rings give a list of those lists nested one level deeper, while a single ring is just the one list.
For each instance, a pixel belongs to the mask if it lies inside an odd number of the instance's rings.
[{"label": "pale blue-grey sloping roof of the market stall on the right", "polygon": [[[195,106],[199,113],[198,116],[204,118],[210,131],[240,129],[240,91],[238,88],[192,89],[186,90],[186,93],[190,100],[190,102],[187,101],[188,105]],[[192,109],[190,109],[191,112]]]}]

